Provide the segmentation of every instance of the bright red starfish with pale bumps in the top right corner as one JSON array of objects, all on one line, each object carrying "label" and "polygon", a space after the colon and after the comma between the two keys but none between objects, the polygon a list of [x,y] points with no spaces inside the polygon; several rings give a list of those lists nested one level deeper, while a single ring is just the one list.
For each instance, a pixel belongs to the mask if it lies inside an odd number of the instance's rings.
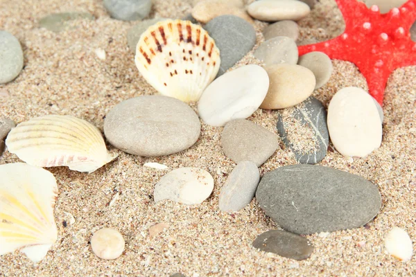
[{"label": "bright red starfish with pale bumps in the top right corner", "polygon": [[403,66],[416,65],[416,43],[410,27],[416,20],[416,0],[380,14],[356,0],[335,0],[343,13],[345,31],[327,42],[299,46],[299,55],[311,51],[331,59],[354,62],[367,79],[370,94],[382,105],[388,76]]}]

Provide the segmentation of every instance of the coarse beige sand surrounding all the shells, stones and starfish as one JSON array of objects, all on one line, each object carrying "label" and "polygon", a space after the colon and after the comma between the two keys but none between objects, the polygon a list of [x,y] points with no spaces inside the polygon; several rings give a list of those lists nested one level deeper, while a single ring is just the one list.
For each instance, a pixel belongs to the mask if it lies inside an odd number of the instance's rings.
[{"label": "coarse beige sand surrounding all the shells, stones and starfish", "polygon": [[[154,1],[150,17],[182,17],[192,2]],[[37,28],[44,15],[67,11],[91,12],[96,20],[74,21],[73,29],[61,33]],[[141,78],[127,45],[126,32],[134,23],[110,19],[100,0],[0,0],[0,28],[19,39],[25,57],[19,77],[0,85],[0,116],[20,123],[35,116],[69,114],[103,130],[105,114],[114,105],[155,93]],[[265,26],[256,21],[258,44]],[[300,30],[300,39],[339,35],[343,19],[335,2],[322,0],[300,21]],[[97,48],[105,50],[105,60],[97,57]],[[236,66],[251,62],[252,52]],[[331,80],[313,93],[325,107],[338,89],[367,89],[354,64],[333,60],[333,68]],[[0,276],[169,276],[177,271],[185,276],[416,276],[415,258],[399,262],[383,244],[385,234],[399,226],[416,245],[415,75],[416,66],[408,66],[390,76],[381,148],[364,159],[352,159],[331,145],[320,163],[376,184],[383,199],[379,215],[363,228],[306,236],[315,247],[308,260],[289,260],[251,246],[260,233],[279,229],[255,200],[239,213],[219,211],[220,189],[235,164],[220,148],[222,128],[202,124],[196,145],[179,154],[144,159],[108,145],[119,158],[92,174],[49,168],[58,180],[58,240],[37,266],[19,251],[1,256]],[[259,109],[249,119],[277,134],[277,111]],[[261,166],[261,175],[296,163],[293,153],[280,145]],[[1,164],[17,161],[7,151],[0,157]],[[155,204],[154,186],[168,170],[143,167],[146,162],[163,163],[169,170],[208,170],[214,192],[197,206]],[[168,229],[150,238],[150,226],[161,222]],[[125,238],[125,251],[116,260],[100,260],[92,253],[89,240],[103,227],[115,228]],[[358,247],[358,242],[365,245]]]}]

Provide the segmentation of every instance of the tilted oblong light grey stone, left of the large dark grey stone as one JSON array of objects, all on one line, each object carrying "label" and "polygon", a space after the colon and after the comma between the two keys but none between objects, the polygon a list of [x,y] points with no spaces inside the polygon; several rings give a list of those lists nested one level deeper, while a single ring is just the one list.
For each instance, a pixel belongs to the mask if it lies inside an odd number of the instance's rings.
[{"label": "tilted oblong light grey stone, left of the large dark grey stone", "polygon": [[221,211],[240,211],[250,204],[259,185],[259,169],[252,161],[241,161],[232,170],[221,189],[218,204]]}]

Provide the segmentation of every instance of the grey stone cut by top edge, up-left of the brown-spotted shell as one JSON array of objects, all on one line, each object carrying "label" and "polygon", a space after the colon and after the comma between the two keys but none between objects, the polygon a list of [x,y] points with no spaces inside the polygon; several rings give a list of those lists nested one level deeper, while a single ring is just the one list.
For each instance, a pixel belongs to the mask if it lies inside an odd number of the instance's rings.
[{"label": "grey stone cut by top edge, up-left of the brown-spotted shell", "polygon": [[119,20],[141,20],[152,8],[151,0],[103,0],[104,7],[112,18]]}]

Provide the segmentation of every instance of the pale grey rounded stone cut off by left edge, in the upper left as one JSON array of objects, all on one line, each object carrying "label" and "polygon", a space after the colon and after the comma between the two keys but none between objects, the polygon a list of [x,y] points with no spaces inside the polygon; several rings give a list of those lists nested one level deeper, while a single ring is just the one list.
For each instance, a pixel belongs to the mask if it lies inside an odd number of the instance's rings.
[{"label": "pale grey rounded stone cut off by left edge, in the upper left", "polygon": [[23,51],[19,40],[5,30],[0,30],[0,84],[10,82],[23,68]]}]

